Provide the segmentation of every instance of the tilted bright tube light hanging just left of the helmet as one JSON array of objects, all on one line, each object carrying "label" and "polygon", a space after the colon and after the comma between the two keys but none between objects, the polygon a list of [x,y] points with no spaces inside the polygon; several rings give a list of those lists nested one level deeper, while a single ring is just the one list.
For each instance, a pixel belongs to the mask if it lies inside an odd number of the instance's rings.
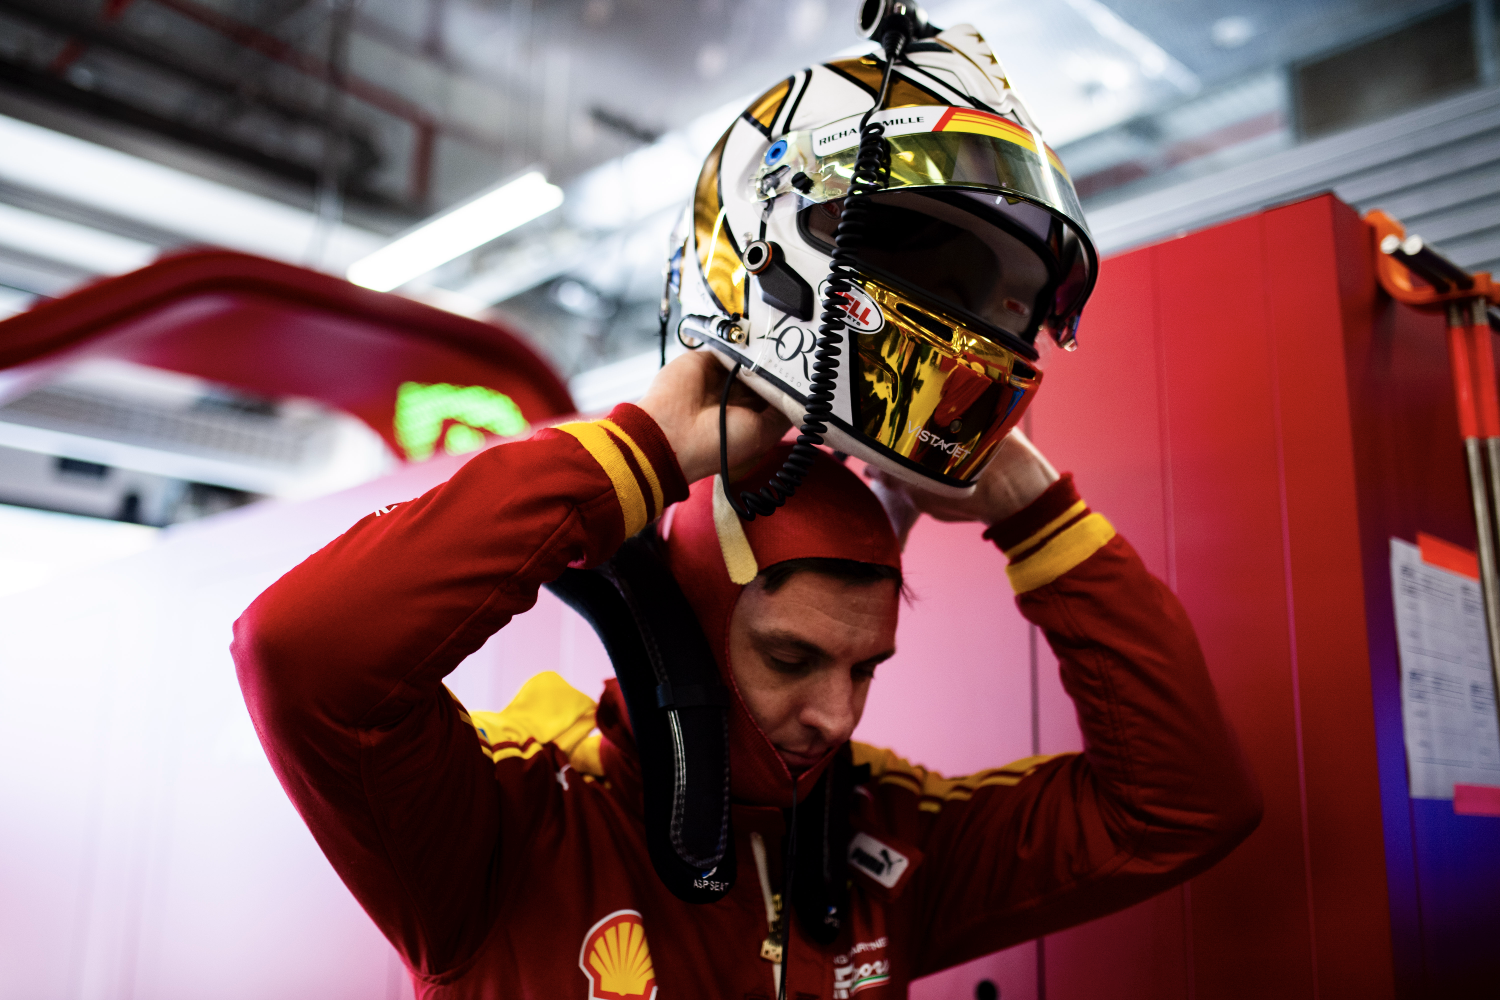
[{"label": "tilted bright tube light hanging just left of the helmet", "polygon": [[350,265],[350,280],[364,288],[390,291],[561,204],[562,189],[549,184],[538,171],[531,171],[356,261]]}]

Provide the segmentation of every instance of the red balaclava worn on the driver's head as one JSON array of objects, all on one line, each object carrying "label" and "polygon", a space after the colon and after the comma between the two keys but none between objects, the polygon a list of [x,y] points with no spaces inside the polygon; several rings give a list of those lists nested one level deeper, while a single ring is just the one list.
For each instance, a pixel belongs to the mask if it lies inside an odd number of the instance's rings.
[{"label": "red balaclava worn on the driver's head", "polygon": [[[772,448],[730,489],[759,489],[782,468],[789,451],[789,444]],[[716,504],[717,483],[717,477],[694,483],[688,498],[672,508],[663,529],[668,565],[698,613],[718,673],[732,693],[730,795],[740,802],[786,808],[792,804],[792,774],[750,717],[729,669],[729,621],[740,594],[758,571],[788,559],[850,559],[898,570],[902,546],[870,487],[824,451],[796,495],[771,517],[740,520],[723,495]],[[798,801],[818,784],[832,756],[830,751],[798,777]]]}]

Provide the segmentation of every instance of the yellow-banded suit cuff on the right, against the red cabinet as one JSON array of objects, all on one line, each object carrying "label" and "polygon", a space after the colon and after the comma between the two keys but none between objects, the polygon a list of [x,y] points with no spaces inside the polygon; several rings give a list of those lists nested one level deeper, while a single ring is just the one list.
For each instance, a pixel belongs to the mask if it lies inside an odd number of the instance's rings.
[{"label": "yellow-banded suit cuff on the right, against the red cabinet", "polygon": [[1024,594],[1047,586],[1102,549],[1114,537],[1114,526],[1089,510],[1068,472],[1024,510],[992,525],[984,537],[1010,559],[1005,574],[1011,588]]}]

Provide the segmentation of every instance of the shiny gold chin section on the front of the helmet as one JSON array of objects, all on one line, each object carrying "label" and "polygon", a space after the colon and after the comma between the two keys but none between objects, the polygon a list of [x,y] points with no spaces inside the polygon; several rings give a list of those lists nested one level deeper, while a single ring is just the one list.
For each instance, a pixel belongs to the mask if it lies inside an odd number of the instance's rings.
[{"label": "shiny gold chin section on the front of the helmet", "polygon": [[1041,372],[952,315],[855,283],[885,319],[873,333],[849,330],[856,429],[904,465],[968,486],[1026,412]]}]

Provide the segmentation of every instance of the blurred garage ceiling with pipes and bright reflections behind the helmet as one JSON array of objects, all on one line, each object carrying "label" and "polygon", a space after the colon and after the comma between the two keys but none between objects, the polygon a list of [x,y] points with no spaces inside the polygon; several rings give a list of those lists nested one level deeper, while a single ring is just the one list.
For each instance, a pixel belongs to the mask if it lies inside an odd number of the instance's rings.
[{"label": "blurred garage ceiling with pipes and bright reflections behind the helmet", "polygon": [[[990,37],[1080,187],[1106,193],[1170,171],[1182,148],[1284,147],[1294,139],[1287,66],[1455,4],[930,6],[934,22],[970,21]],[[502,301],[574,372],[639,349],[650,333],[668,208],[720,120],[768,81],[858,45],[854,9],[854,0],[0,0],[0,115],[291,208],[310,235],[278,237],[278,255],[330,270],[538,166],[568,192],[561,213],[408,291],[471,312]],[[1488,0],[1474,10],[1486,13]],[[1204,145],[1204,135],[1218,138]],[[627,174],[628,198],[606,183]],[[232,234],[213,235],[216,213],[189,232],[159,211],[18,180],[3,163],[0,205],[147,250],[234,244]],[[66,255],[0,247],[0,298],[16,307],[58,294],[98,273],[87,261],[102,252],[57,259]]]}]

